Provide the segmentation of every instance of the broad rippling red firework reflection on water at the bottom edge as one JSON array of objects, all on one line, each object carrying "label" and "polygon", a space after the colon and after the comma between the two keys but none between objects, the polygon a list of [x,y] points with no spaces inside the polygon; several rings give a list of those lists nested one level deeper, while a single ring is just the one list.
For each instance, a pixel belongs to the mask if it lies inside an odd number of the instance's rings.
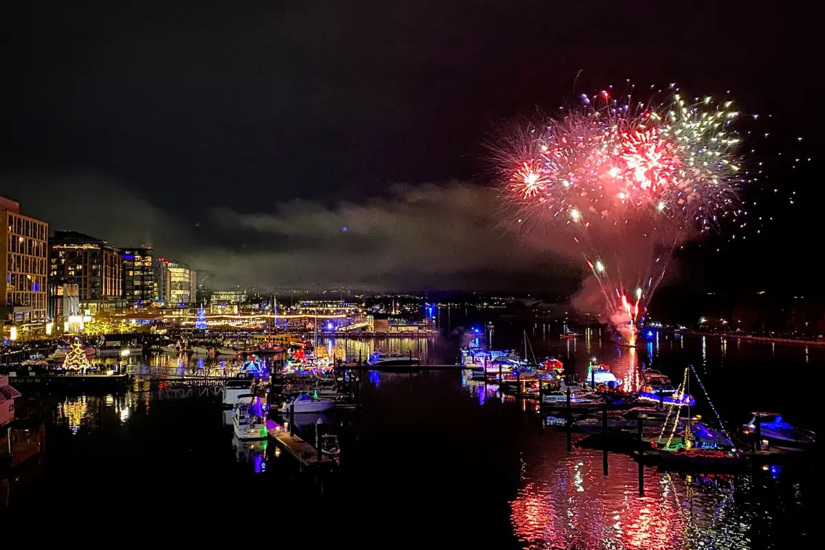
[{"label": "broad rippling red firework reflection on water at the bottom edge", "polygon": [[[558,434],[556,434],[558,435]],[[601,453],[542,444],[528,460],[512,502],[512,525],[525,548],[751,548],[751,519],[735,506],[733,477],[678,477],[645,468],[639,496],[637,464]]]}]

